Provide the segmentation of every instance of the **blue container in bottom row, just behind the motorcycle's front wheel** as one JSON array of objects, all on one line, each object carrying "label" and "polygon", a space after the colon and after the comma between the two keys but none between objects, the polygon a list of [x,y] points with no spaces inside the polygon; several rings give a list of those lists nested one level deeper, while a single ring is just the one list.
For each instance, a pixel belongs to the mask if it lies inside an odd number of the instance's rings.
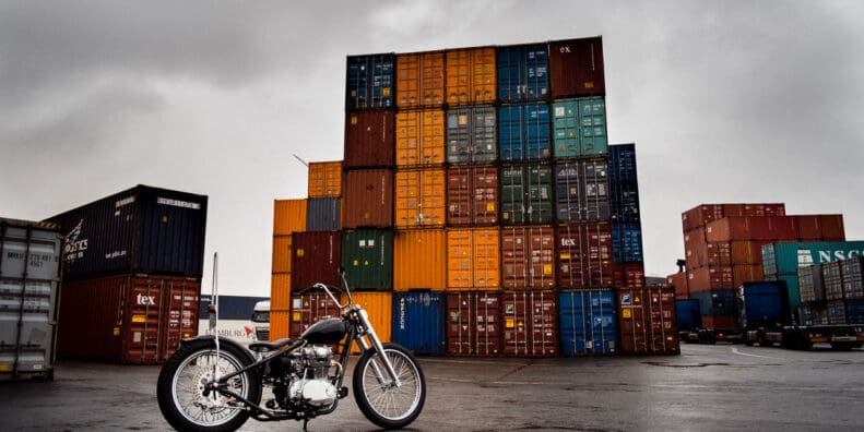
[{"label": "blue container in bottom row, just behind the motorcycle's front wheel", "polygon": [[442,356],[447,351],[446,308],[443,293],[393,293],[393,341],[417,355]]}]

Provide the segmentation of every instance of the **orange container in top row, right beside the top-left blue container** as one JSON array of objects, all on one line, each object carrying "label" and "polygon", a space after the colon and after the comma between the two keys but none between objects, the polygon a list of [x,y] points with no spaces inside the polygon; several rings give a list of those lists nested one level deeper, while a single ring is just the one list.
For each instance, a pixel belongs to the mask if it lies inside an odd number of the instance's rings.
[{"label": "orange container in top row, right beside the top-left blue container", "polygon": [[442,51],[397,55],[399,109],[442,106],[443,73]]}]

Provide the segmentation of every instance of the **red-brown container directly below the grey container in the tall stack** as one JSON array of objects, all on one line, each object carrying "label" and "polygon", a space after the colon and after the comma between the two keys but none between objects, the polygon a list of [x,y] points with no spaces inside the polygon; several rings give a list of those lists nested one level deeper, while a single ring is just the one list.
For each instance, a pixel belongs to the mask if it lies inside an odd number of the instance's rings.
[{"label": "red-brown container directly below the grey container in the tall stack", "polygon": [[498,223],[498,168],[454,165],[447,170],[447,224],[483,226]]}]

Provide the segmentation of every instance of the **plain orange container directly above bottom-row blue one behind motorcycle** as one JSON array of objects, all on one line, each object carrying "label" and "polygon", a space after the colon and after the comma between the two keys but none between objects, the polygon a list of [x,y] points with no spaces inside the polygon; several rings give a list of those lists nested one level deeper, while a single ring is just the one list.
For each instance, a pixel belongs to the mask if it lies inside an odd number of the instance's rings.
[{"label": "plain orange container directly above bottom-row blue one behind motorcycle", "polygon": [[447,289],[447,232],[397,231],[393,236],[393,290]]}]

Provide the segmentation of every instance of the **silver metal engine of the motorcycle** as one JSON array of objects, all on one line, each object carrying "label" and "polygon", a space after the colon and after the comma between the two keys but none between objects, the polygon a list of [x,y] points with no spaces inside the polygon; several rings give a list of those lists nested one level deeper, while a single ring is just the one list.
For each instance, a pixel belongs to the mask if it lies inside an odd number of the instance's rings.
[{"label": "silver metal engine of the motorcycle", "polygon": [[339,391],[329,377],[330,369],[335,365],[330,347],[307,346],[295,353],[293,364],[296,379],[288,388],[288,397],[293,403],[321,408],[336,400]]}]

